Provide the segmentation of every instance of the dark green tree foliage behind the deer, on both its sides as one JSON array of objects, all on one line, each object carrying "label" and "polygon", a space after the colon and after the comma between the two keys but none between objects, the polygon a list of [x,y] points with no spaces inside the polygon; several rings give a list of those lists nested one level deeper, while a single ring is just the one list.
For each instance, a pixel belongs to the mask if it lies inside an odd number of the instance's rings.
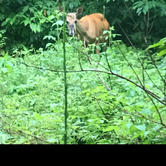
[{"label": "dark green tree foliage behind the deer, on both its sides", "polygon": [[[5,31],[7,50],[12,50],[18,43],[26,47],[44,48],[48,42],[59,41],[62,34],[57,29],[62,28],[62,23],[57,9],[61,5],[62,1],[52,0],[1,1],[0,30]],[[67,12],[75,12],[79,6],[83,6],[82,16],[105,14],[110,25],[115,26],[116,33],[122,34],[116,39],[126,44],[132,42],[137,47],[146,48],[165,37],[164,0],[67,0],[65,6]]]}]

